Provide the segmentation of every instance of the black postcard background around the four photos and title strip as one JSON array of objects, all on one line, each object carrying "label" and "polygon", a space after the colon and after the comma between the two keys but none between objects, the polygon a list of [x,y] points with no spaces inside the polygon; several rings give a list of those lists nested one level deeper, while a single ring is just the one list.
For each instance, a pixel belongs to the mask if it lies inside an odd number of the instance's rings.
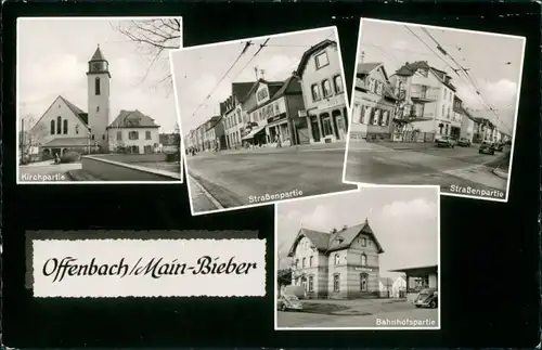
[{"label": "black postcard background around the four photos and title strip", "polygon": [[[11,2],[3,11],[4,345],[361,348],[533,347],[540,341],[540,5]],[[16,186],[16,17],[68,15],[182,15],[186,47],[336,25],[347,87],[353,76],[360,16],[527,37],[508,203],[441,198],[442,329],[273,330],[272,206],[191,217],[185,185]],[[25,230],[78,229],[259,230],[260,237],[268,238],[268,296],[34,299],[24,287]]]}]

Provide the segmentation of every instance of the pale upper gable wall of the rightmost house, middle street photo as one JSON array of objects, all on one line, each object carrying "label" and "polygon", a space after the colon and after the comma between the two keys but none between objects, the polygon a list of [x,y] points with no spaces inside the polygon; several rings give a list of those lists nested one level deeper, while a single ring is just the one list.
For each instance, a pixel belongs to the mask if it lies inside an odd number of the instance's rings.
[{"label": "pale upper gable wall of the rightmost house, middle street photo", "polygon": [[[323,51],[327,53],[327,60],[330,64],[317,70],[314,57]],[[340,57],[336,44],[327,46],[323,50],[320,50],[315,52],[313,55],[311,55],[307,62],[307,66],[305,67],[301,77],[301,89],[304,92],[305,107],[307,109],[312,109],[319,105],[320,101],[315,102],[312,101],[311,86],[313,83],[318,83],[320,86],[320,96],[322,96],[322,81],[324,79],[328,79],[332,85],[332,95],[338,94],[335,91],[333,78],[340,74],[341,74]],[[343,93],[344,91],[345,91],[345,79],[343,77]]]}]

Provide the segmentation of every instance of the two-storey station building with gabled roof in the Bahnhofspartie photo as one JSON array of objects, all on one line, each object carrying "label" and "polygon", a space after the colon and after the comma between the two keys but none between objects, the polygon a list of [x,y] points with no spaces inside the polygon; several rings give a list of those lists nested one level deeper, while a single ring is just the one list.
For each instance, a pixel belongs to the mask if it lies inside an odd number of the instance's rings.
[{"label": "two-storey station building with gabled roof in the Bahnhofspartie photo", "polygon": [[382,252],[367,220],[328,233],[301,228],[288,251],[292,284],[309,298],[377,295]]}]

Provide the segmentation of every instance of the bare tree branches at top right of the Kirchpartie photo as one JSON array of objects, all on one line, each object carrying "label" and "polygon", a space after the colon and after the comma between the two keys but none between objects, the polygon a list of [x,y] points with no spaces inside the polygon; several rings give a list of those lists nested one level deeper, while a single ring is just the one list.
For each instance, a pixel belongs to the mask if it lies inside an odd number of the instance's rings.
[{"label": "bare tree branches at top right of the Kirchpartie photo", "polygon": [[146,21],[130,21],[119,23],[115,29],[124,35],[129,41],[137,43],[141,53],[151,57],[151,63],[142,80],[146,80],[149,73],[155,68],[158,62],[167,66],[167,73],[158,81],[158,86],[165,86],[168,91],[172,89],[171,72],[169,70],[168,50],[179,49],[181,43],[181,20],[180,18],[156,18]]}]

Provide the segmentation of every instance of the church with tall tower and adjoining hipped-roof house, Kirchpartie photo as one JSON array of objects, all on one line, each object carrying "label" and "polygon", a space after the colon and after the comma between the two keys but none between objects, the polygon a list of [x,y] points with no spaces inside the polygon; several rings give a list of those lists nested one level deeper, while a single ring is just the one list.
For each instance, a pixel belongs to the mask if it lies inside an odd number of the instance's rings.
[{"label": "church with tall tower and adjoining hipped-roof house, Kirchpartie photo", "polygon": [[59,95],[30,133],[38,141],[40,154],[49,158],[66,151],[79,154],[153,153],[158,146],[158,129],[154,120],[139,111],[120,111],[111,120],[111,73],[109,64],[98,46],[88,62],[87,107],[88,112]]}]

